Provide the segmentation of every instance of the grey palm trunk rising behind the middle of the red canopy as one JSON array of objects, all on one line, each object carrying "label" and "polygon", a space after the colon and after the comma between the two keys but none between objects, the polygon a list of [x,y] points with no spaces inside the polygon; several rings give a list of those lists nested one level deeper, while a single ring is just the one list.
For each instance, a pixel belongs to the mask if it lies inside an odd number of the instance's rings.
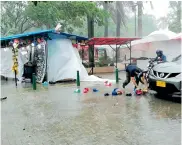
[{"label": "grey palm trunk rising behind the middle of the red canopy", "polygon": [[116,1],[116,37],[120,37],[121,15],[119,13],[119,1]]}]

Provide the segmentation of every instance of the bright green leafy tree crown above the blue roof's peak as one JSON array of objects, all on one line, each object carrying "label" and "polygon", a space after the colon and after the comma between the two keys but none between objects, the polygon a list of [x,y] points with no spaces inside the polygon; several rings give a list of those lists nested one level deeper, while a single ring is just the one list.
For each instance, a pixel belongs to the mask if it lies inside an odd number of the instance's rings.
[{"label": "bright green leafy tree crown above the blue roof's peak", "polygon": [[103,24],[104,13],[96,3],[82,1],[47,1],[35,6],[29,3],[27,15],[39,26],[55,27],[60,22],[63,31],[73,32],[73,27],[82,27],[87,16],[94,17],[96,23]]}]

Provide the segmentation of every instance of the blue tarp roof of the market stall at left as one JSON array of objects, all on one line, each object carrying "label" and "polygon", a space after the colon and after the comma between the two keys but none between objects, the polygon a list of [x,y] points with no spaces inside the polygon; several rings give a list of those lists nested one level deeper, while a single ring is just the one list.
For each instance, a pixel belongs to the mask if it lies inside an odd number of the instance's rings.
[{"label": "blue tarp roof of the market stall at left", "polygon": [[[81,36],[77,36],[77,35],[72,35],[72,34],[68,34],[68,33],[56,33],[55,30],[42,30],[42,31],[36,31],[36,32],[28,32],[28,33],[23,33],[23,34],[17,34],[17,35],[12,35],[12,36],[7,36],[7,37],[2,37],[0,38],[0,41],[8,41],[8,40],[13,40],[16,38],[25,38],[25,37],[32,37],[32,36],[44,36],[50,34],[50,38],[51,39],[56,39],[56,38],[69,38],[69,39],[75,39],[77,41],[81,41],[81,40],[88,40],[88,38],[86,37],[81,37]],[[56,34],[56,35],[54,35]],[[52,37],[53,38],[52,38]]]}]

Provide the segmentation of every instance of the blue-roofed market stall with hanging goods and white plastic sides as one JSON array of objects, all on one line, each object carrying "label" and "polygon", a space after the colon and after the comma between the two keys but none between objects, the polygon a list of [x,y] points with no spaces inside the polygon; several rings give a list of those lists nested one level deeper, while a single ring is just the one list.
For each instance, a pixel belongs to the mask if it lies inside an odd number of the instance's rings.
[{"label": "blue-roofed market stall with hanging goods and white plastic sides", "polygon": [[[21,80],[22,77],[31,77],[30,74],[36,73],[37,82],[41,83],[44,80],[58,81],[66,78],[76,78],[76,76],[70,74],[65,75],[66,72],[60,72],[59,76],[53,76],[49,69],[57,70],[63,68],[60,64],[51,64],[51,60],[59,59],[61,62],[73,62],[77,59],[77,54],[74,52],[72,43],[80,43],[86,41],[87,38],[67,33],[55,32],[55,30],[44,30],[38,32],[18,34],[8,37],[0,38],[1,40],[1,76],[14,78],[17,86],[17,80]],[[64,44],[64,45],[63,45]],[[69,51],[68,49],[69,48]],[[55,54],[50,52],[68,52],[69,58],[61,56],[58,58]],[[79,66],[79,62],[76,61],[74,65]],[[62,64],[64,65],[64,64]],[[26,69],[25,69],[26,67]],[[35,68],[35,69],[34,69]],[[57,69],[56,69],[57,68]],[[74,69],[73,69],[74,68]],[[66,69],[72,69],[76,72],[78,68],[67,67]],[[81,70],[80,70],[81,71]],[[27,72],[27,73],[25,73]],[[84,72],[84,71],[83,71]],[[29,73],[29,75],[27,75]],[[52,76],[52,78],[48,76]]]}]

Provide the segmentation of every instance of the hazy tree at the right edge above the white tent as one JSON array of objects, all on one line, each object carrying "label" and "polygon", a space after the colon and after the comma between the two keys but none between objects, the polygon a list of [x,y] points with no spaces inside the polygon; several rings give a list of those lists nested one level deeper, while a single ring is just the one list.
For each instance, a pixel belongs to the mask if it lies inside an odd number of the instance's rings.
[{"label": "hazy tree at the right edge above the white tent", "polygon": [[181,32],[181,1],[170,1],[169,9],[169,29],[173,32],[179,33]]}]

